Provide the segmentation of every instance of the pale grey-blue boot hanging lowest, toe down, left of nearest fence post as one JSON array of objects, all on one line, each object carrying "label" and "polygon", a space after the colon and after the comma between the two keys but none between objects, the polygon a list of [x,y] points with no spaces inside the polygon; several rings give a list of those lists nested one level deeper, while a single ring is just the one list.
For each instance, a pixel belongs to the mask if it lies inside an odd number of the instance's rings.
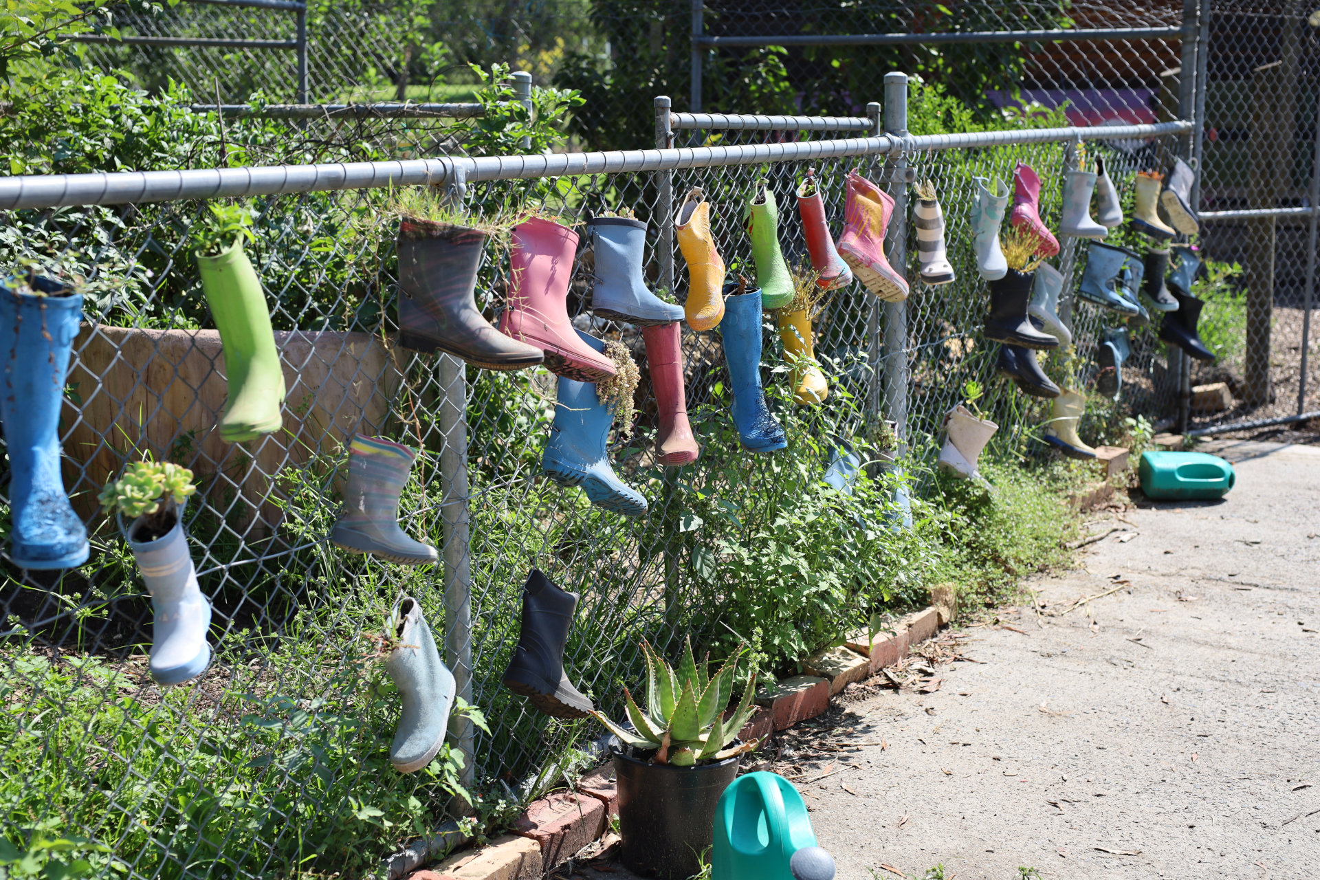
[{"label": "pale grey-blue boot hanging lowest, toe down, left of nearest fence post", "polygon": [[454,703],[454,673],[440,660],[436,639],[416,599],[399,600],[385,637],[396,645],[385,657],[385,672],[399,689],[404,708],[389,747],[389,763],[400,773],[416,773],[445,744]]}]

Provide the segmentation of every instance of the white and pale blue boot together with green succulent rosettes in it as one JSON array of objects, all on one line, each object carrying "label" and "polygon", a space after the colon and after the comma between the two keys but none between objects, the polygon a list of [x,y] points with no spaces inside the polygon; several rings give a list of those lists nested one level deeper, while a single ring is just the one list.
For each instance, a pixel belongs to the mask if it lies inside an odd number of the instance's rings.
[{"label": "white and pale blue boot together with green succulent rosettes in it", "polygon": [[131,464],[100,491],[102,508],[115,515],[152,596],[149,669],[158,685],[197,678],[211,662],[211,603],[198,588],[183,533],[183,507],[194,492],[193,471],[150,460]]}]

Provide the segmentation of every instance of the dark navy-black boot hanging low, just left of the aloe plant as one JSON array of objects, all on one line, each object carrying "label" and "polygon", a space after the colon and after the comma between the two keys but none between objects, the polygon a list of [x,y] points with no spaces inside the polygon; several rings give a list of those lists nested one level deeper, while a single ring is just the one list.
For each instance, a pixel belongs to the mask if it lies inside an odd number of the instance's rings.
[{"label": "dark navy-black boot hanging low, just left of the aloe plant", "polygon": [[504,670],[504,686],[552,718],[586,718],[594,708],[564,672],[564,645],[577,600],[576,592],[560,590],[540,569],[532,569],[523,587],[523,629]]}]

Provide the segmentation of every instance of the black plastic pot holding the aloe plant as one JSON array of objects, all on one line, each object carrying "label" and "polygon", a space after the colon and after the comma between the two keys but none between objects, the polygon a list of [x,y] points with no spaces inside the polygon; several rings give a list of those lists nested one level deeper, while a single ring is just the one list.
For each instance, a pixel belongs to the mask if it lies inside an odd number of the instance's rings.
[{"label": "black plastic pot holding the aloe plant", "polygon": [[671,767],[614,752],[620,855],[628,871],[660,880],[697,873],[714,839],[715,805],[741,760],[735,755],[715,764]]}]

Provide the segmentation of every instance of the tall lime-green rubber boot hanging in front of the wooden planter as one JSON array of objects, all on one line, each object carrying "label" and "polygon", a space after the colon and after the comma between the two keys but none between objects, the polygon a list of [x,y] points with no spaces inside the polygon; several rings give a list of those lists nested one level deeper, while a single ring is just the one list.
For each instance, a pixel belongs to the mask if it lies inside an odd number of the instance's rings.
[{"label": "tall lime-green rubber boot hanging in front of the wooden planter", "polygon": [[280,430],[284,371],[261,281],[243,252],[243,241],[235,241],[214,257],[198,255],[197,268],[206,305],[220,331],[230,383],[220,417],[220,439],[240,443]]}]

